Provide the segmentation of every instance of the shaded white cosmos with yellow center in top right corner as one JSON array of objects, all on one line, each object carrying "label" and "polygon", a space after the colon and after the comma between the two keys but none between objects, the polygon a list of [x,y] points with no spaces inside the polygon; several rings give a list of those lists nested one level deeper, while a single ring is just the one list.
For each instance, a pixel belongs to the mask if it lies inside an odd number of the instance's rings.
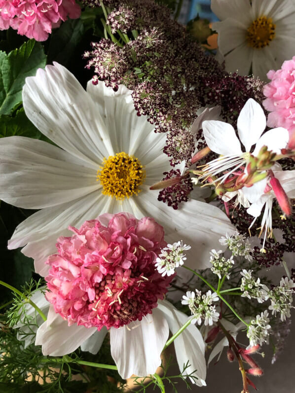
[{"label": "shaded white cosmos with yellow center in top right corner", "polygon": [[213,29],[227,71],[265,81],[269,70],[294,55],[293,0],[212,0],[211,8],[221,20]]}]

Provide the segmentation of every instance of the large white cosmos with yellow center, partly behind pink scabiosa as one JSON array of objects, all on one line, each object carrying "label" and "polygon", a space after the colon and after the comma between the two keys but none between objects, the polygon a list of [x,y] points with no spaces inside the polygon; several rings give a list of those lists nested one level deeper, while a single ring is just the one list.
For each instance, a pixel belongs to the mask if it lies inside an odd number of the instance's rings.
[{"label": "large white cosmos with yellow center, partly behind pink scabiosa", "polygon": [[[234,230],[218,208],[190,200],[177,211],[157,201],[149,187],[170,170],[162,152],[165,135],[154,133],[147,116],[137,116],[131,91],[103,82],[85,91],[61,65],[39,69],[26,79],[23,105],[29,119],[57,146],[23,137],[0,140],[0,198],[25,209],[42,209],[22,222],[8,248],[35,259],[46,275],[46,257],[69,225],[103,213],[129,212],[156,217],[194,244],[194,268],[208,264],[218,238]],[[116,197],[118,199],[116,199]],[[217,246],[216,246],[217,247]],[[194,263],[196,262],[196,263]]]}]

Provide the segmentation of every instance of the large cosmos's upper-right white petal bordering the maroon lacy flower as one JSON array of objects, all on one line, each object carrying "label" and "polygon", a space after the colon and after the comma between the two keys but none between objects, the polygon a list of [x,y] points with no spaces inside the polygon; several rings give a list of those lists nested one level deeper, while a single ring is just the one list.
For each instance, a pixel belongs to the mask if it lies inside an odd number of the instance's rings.
[{"label": "large cosmos's upper-right white petal bordering the maroon lacy flower", "polygon": [[113,147],[113,152],[110,154],[125,151],[143,160],[146,159],[146,155],[149,155],[150,160],[157,156],[159,148],[154,150],[152,147],[163,137],[153,132],[154,126],[147,121],[147,116],[137,115],[131,90],[119,85],[118,91],[114,92],[102,81],[95,86],[89,81],[87,93],[97,104],[106,124]]}]

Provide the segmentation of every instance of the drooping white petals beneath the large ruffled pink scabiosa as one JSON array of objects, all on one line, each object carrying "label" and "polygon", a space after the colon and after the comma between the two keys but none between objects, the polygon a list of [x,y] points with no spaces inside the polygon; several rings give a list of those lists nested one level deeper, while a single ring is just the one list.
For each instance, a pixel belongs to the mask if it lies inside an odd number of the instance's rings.
[{"label": "drooping white petals beneath the large ruffled pink scabiosa", "polygon": [[[49,304],[40,291],[34,295],[34,298],[32,297],[32,300],[47,313]],[[26,307],[27,312],[35,314],[32,306]],[[175,334],[185,322],[187,316],[184,313],[178,311],[167,300],[158,300],[158,306],[152,310],[152,314],[147,314],[142,321],[137,320],[119,328],[111,327],[109,330],[111,356],[121,377],[125,379],[133,374],[138,376],[154,374],[161,364],[160,356],[168,340],[169,330]],[[76,323],[69,326],[68,321],[56,314],[53,306],[50,305],[47,320],[37,329],[35,344],[42,346],[42,353],[45,356],[71,354],[79,346],[82,351],[97,354],[107,333],[106,327],[98,331],[96,327],[86,328]],[[31,344],[31,341],[28,344]],[[198,386],[205,386],[205,343],[198,328],[190,324],[176,338],[174,347],[180,371],[189,361],[190,366],[185,370],[186,374],[196,370],[193,376],[198,378],[191,378],[191,382]]]}]

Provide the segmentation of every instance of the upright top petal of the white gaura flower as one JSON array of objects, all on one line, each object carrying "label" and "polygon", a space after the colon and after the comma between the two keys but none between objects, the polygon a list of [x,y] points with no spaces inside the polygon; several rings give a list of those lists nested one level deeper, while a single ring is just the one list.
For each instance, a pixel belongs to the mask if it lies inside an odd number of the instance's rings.
[{"label": "upright top petal of the white gaura flower", "polygon": [[242,108],[238,121],[238,134],[246,151],[257,143],[266,127],[266,118],[260,105],[250,98]]}]

